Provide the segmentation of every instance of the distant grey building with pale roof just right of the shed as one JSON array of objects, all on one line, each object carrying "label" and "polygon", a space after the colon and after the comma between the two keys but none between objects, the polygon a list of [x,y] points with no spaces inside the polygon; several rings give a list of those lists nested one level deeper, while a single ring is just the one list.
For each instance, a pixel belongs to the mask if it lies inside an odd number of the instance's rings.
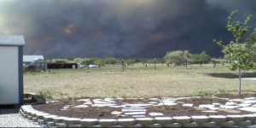
[{"label": "distant grey building with pale roof just right of the shed", "polygon": [[43,55],[23,55],[23,65],[32,65],[42,70],[47,69],[47,63]]}]

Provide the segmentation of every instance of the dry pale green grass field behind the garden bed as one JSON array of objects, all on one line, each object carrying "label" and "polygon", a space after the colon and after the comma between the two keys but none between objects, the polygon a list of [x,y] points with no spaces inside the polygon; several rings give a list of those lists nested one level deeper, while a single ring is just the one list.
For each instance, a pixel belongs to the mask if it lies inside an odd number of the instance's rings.
[{"label": "dry pale green grass field behind the garden bed", "polygon": [[[247,72],[256,72],[247,71]],[[212,78],[208,73],[232,73],[227,67],[199,65],[166,67],[143,65],[56,69],[50,73],[24,73],[24,91],[53,99],[81,97],[203,96],[218,90],[238,89],[238,79]],[[242,91],[256,91],[255,80],[242,80]]]}]

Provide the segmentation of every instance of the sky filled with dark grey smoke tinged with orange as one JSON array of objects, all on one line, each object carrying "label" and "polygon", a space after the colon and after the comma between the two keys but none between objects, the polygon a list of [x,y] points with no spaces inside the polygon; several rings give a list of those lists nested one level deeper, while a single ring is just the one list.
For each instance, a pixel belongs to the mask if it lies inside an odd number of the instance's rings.
[{"label": "sky filled with dark grey smoke tinged with orange", "polygon": [[234,20],[256,16],[256,1],[1,0],[0,34],[24,35],[24,55],[46,58],[161,58],[172,50],[221,57],[212,40],[233,39],[225,26],[236,9]]}]

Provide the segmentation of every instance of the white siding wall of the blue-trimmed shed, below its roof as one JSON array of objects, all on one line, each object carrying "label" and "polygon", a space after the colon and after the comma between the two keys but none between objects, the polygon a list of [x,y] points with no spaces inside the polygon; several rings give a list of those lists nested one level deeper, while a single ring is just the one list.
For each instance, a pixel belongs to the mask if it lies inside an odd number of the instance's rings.
[{"label": "white siding wall of the blue-trimmed shed, below its roof", "polygon": [[0,46],[0,104],[19,103],[18,47]]}]

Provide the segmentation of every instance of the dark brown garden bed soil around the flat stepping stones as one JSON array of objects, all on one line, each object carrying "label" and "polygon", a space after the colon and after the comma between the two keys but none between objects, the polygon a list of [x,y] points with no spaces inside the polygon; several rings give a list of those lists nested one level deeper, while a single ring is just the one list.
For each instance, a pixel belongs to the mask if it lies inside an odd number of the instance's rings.
[{"label": "dark brown garden bed soil around the flat stepping stones", "polygon": [[[244,98],[249,96],[256,96],[256,93],[244,93],[241,96],[230,93],[219,93],[215,96],[224,97],[224,98]],[[124,99],[124,100],[116,100],[118,105],[120,104],[128,104],[128,103],[146,103],[150,102],[148,99]],[[154,101],[155,102],[155,101]],[[182,103],[193,103],[192,107],[183,107]],[[177,100],[177,105],[173,106],[150,106],[147,109],[147,113],[145,114],[148,117],[151,117],[148,113],[150,112],[160,112],[164,113],[166,116],[191,116],[191,115],[226,115],[230,114],[226,111],[218,110],[217,113],[205,113],[202,112],[203,109],[198,108],[201,104],[212,104],[212,103],[220,103],[224,104],[228,102],[223,99],[211,98],[210,96],[200,97],[200,98],[188,98],[188,99],[180,99]],[[119,116],[112,114],[113,111],[121,112],[122,108],[110,108],[110,107],[89,107],[89,108],[69,108],[67,110],[61,110],[64,106],[76,106],[81,105],[84,102],[79,102],[76,100],[62,100],[60,102],[51,102],[47,104],[38,104],[32,105],[33,108],[43,111],[46,113],[51,113],[59,116],[65,117],[73,117],[73,118],[97,118],[97,119],[117,119],[117,118],[131,118],[131,115]],[[231,114],[247,114],[249,112],[240,111],[239,113],[231,113]]]}]

